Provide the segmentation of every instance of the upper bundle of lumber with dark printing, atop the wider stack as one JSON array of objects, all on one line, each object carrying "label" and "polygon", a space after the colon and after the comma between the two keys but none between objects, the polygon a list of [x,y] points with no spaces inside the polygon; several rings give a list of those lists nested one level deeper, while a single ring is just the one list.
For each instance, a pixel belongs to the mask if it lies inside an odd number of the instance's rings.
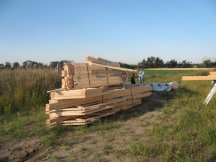
[{"label": "upper bundle of lumber with dark printing, atop the wider stack", "polygon": [[127,72],[136,70],[121,68],[119,63],[102,58],[86,57],[87,63],[65,64],[62,71],[62,89],[93,88],[121,85]]}]

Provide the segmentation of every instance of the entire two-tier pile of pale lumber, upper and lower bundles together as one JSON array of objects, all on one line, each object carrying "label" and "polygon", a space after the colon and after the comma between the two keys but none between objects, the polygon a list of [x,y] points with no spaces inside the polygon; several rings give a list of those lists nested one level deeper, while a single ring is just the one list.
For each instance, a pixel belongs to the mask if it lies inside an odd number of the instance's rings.
[{"label": "entire two-tier pile of pale lumber, upper and lower bundles together", "polygon": [[126,84],[128,72],[135,71],[101,58],[65,64],[62,89],[49,91],[47,125],[86,125],[141,104],[142,98],[152,94],[152,87]]}]

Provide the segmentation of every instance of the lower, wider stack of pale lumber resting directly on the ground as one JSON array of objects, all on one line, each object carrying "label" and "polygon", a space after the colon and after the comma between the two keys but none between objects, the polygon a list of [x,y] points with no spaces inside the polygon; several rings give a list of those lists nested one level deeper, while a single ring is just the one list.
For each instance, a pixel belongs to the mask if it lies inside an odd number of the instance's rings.
[{"label": "lower, wider stack of pale lumber resting directly on the ground", "polygon": [[48,126],[86,125],[97,119],[141,104],[141,99],[151,95],[151,86],[125,88],[83,88],[53,90],[46,105]]}]

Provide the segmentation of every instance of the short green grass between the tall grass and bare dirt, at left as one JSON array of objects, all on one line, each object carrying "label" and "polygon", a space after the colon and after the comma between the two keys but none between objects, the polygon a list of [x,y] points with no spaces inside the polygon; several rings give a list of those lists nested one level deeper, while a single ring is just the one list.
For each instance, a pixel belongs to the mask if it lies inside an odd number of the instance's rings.
[{"label": "short green grass between the tall grass and bare dirt, at left", "polygon": [[0,141],[19,141],[27,137],[39,137],[43,145],[52,145],[57,136],[65,131],[62,126],[48,128],[43,107],[31,109],[1,118]]}]

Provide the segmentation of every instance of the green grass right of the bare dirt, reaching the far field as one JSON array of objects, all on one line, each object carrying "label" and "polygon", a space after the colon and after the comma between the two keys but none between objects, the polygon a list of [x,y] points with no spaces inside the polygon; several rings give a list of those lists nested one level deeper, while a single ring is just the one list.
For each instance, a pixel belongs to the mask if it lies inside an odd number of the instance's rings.
[{"label": "green grass right of the bare dirt, reaching the far field", "polygon": [[[204,72],[173,71],[162,75],[154,71],[154,78],[162,81],[177,80],[184,75],[205,75]],[[193,73],[193,74],[192,74]],[[150,75],[150,74],[149,74]],[[152,75],[147,81],[153,79]],[[159,158],[162,161],[215,161],[216,160],[216,100],[212,99],[208,106],[203,101],[209,93],[210,81],[181,81],[180,89],[172,93],[164,93],[169,97],[163,106],[162,114],[149,130],[149,137],[156,140],[151,145],[137,142],[126,149],[127,155],[134,158]]]}]

